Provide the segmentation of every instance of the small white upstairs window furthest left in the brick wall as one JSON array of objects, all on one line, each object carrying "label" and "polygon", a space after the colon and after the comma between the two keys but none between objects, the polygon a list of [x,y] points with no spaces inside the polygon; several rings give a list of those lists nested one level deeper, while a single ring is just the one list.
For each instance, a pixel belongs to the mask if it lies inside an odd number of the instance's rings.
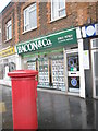
[{"label": "small white upstairs window furthest left in the brick wall", "polygon": [[5,28],[7,28],[7,40],[9,40],[12,38],[12,21],[11,20],[7,23]]}]

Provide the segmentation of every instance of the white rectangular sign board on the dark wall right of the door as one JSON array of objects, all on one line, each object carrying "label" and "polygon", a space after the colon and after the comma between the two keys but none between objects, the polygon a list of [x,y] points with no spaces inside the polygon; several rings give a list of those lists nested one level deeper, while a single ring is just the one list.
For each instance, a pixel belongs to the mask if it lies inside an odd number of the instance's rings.
[{"label": "white rectangular sign board on the dark wall right of the door", "polygon": [[83,64],[84,64],[84,69],[89,69],[89,51],[88,50],[83,51]]}]

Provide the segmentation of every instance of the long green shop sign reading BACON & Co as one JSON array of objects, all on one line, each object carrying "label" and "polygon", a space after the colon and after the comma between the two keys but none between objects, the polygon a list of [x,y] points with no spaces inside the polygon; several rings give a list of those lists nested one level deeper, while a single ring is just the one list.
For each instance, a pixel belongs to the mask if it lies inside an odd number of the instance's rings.
[{"label": "long green shop sign reading BACON & Co", "polygon": [[16,45],[17,53],[45,50],[47,48],[56,48],[69,44],[77,44],[76,29],[71,28],[54,34],[50,34],[34,40]]}]

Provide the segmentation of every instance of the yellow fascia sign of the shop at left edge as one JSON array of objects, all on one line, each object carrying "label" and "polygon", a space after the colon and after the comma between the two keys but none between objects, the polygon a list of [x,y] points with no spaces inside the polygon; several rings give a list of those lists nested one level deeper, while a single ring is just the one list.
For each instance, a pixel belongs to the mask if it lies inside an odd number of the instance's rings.
[{"label": "yellow fascia sign of the shop at left edge", "polygon": [[1,57],[8,57],[8,56],[11,56],[11,55],[14,55],[14,53],[15,53],[14,47],[8,47],[8,48],[2,49],[0,51],[0,56]]}]

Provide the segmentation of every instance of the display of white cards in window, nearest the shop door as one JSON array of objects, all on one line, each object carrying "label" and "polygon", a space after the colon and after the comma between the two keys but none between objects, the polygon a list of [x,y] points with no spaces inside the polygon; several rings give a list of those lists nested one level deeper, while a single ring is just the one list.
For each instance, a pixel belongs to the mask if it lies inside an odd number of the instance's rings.
[{"label": "display of white cards in window, nearest the shop door", "polygon": [[65,91],[63,57],[52,58],[51,74],[53,88]]}]

